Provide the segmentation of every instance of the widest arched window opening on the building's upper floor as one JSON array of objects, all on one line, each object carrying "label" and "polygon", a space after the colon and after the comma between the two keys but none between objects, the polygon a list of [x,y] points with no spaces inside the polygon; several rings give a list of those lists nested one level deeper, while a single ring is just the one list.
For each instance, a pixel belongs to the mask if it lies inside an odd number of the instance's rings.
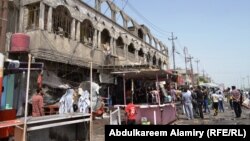
[{"label": "widest arched window opening on the building's upper floor", "polygon": [[69,10],[64,6],[58,6],[53,9],[53,32],[70,37],[72,17]]}]

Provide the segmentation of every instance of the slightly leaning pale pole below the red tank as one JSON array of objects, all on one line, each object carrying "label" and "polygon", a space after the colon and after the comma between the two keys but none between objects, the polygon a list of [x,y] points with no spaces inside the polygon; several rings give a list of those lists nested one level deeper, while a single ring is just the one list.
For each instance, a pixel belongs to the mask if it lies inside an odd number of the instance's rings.
[{"label": "slightly leaning pale pole below the red tank", "polygon": [[24,114],[23,141],[26,141],[27,116],[28,116],[28,100],[29,100],[29,84],[30,84],[31,54],[29,54],[28,57],[29,57],[29,62],[28,62],[27,85],[26,85],[26,99],[25,99],[25,114]]}]

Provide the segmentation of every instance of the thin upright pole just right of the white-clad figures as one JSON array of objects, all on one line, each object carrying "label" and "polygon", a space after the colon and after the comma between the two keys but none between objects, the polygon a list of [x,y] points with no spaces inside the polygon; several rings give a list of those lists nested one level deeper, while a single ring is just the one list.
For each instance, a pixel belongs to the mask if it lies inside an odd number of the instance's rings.
[{"label": "thin upright pole just right of the white-clad figures", "polygon": [[90,125],[89,125],[89,140],[92,141],[92,133],[93,133],[93,101],[92,101],[92,96],[93,96],[93,92],[92,92],[92,61],[90,62]]}]

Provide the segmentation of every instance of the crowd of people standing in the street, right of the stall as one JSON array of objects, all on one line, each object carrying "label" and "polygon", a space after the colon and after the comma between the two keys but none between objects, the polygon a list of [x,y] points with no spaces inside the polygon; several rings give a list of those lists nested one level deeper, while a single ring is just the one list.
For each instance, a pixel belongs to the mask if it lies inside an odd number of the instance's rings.
[{"label": "crowd of people standing in the street, right of the stall", "polygon": [[230,103],[231,110],[234,110],[235,117],[241,117],[241,106],[243,103],[243,91],[236,89],[236,86],[221,90],[216,87],[207,88],[197,86],[195,88],[184,87],[181,93],[183,112],[188,120],[194,117],[204,118],[203,113],[213,111],[213,116],[224,112],[224,102]]}]

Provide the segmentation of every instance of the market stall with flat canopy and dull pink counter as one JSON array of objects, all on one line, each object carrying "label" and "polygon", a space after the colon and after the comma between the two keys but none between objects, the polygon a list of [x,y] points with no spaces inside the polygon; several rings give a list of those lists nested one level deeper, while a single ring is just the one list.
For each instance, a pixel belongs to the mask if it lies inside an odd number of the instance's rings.
[{"label": "market stall with flat canopy and dull pink counter", "polygon": [[[160,87],[160,81],[167,81],[171,76],[171,73],[164,70],[159,69],[141,69],[135,71],[121,71],[121,72],[112,72],[116,75],[121,75],[124,79],[124,104],[123,105],[115,105],[115,107],[125,107],[126,106],[126,91],[125,81],[130,79],[131,83],[131,91],[134,94],[134,90],[136,89],[134,80],[148,80],[154,83],[157,91],[162,91],[163,95],[166,95],[166,91],[164,87]],[[144,97],[148,97],[148,94],[144,93]],[[134,96],[132,96],[134,97]],[[159,96],[160,98],[160,96]],[[161,99],[157,102],[146,100],[146,103],[136,103],[136,123],[141,124],[142,120],[148,121],[150,124],[170,124],[176,117],[176,108],[175,103],[163,103]]]}]

